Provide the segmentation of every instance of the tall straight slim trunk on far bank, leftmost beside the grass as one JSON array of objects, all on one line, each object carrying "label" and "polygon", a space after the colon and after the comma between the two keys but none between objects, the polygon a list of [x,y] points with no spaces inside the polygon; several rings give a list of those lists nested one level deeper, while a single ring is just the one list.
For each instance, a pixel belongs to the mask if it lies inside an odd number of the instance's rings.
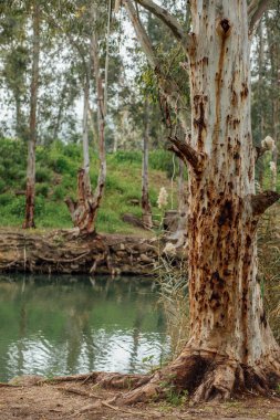
[{"label": "tall straight slim trunk on far bank, leftmost beside the grass", "polygon": [[28,144],[28,169],[25,191],[25,219],[22,228],[34,228],[34,201],[35,201],[35,145],[37,145],[37,106],[39,83],[39,59],[40,59],[40,6],[33,2],[32,11],[33,52],[31,73],[31,97]]}]

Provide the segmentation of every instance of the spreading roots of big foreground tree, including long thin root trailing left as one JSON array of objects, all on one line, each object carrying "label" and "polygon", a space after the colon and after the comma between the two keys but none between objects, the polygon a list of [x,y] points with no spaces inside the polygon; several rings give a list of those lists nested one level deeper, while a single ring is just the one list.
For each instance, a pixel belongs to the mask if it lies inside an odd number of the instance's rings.
[{"label": "spreading roots of big foreground tree, including long thin root trailing left", "polygon": [[[40,381],[40,384],[45,382]],[[89,381],[102,388],[127,390],[116,403],[133,405],[164,399],[170,392],[188,392],[193,401],[228,400],[243,393],[269,396],[280,382],[280,363],[268,360],[247,366],[215,353],[185,350],[175,361],[154,375],[92,372],[56,377],[55,382]]]}]

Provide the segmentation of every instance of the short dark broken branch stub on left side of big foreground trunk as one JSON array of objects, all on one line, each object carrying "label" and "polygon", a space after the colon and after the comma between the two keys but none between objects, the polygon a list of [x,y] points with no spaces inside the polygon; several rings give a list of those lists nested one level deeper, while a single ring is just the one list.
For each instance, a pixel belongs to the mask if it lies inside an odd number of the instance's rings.
[{"label": "short dark broken branch stub on left side of big foreground trunk", "polygon": [[196,151],[186,141],[182,141],[177,137],[168,137],[168,140],[172,143],[169,150],[174,151],[185,165],[189,164],[197,175],[203,172],[206,161],[205,154]]}]

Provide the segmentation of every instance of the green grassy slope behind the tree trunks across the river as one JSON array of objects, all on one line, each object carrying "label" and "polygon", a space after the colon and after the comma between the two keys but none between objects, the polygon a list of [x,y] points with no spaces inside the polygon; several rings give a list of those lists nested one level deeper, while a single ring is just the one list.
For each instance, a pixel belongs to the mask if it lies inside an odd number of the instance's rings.
[{"label": "green grassy slope behind the tree trunks across the river", "polygon": [[[19,140],[0,139],[0,224],[21,227],[24,217],[27,145]],[[35,224],[39,229],[71,228],[72,221],[64,203],[66,196],[76,196],[76,172],[82,165],[81,145],[54,143],[37,149]],[[152,151],[151,201],[155,218],[158,214],[157,195],[162,186],[170,191],[172,155]],[[176,168],[177,169],[177,168]],[[141,208],[131,203],[141,199],[141,151],[118,151],[107,155],[107,179],[104,200],[98,211],[96,229],[108,233],[133,233],[135,228],[122,221],[122,214],[141,216]],[[98,175],[98,159],[91,156],[93,189]],[[174,183],[176,196],[176,183]]]}]

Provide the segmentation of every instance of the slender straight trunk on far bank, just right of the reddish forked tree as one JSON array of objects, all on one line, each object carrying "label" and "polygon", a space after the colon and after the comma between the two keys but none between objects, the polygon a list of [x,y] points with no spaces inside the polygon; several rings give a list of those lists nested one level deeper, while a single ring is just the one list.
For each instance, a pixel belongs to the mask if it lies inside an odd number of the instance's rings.
[{"label": "slender straight trunk on far bank, just right of the reddish forked tree", "polygon": [[152,207],[148,197],[148,138],[149,138],[149,105],[145,101],[145,132],[143,137],[142,161],[142,221],[146,229],[153,228]]}]

